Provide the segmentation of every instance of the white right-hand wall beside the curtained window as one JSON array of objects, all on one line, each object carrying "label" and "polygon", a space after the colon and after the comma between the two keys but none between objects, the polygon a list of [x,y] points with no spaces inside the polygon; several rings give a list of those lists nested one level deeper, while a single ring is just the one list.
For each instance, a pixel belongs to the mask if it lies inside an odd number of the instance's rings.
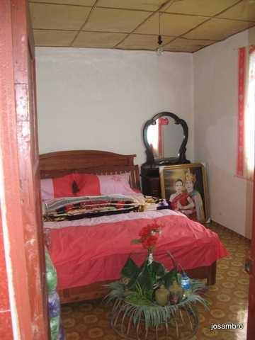
[{"label": "white right-hand wall beside the curtained window", "polygon": [[250,237],[252,186],[235,176],[238,47],[246,45],[247,30],[193,55],[194,149],[208,164],[212,220]]}]

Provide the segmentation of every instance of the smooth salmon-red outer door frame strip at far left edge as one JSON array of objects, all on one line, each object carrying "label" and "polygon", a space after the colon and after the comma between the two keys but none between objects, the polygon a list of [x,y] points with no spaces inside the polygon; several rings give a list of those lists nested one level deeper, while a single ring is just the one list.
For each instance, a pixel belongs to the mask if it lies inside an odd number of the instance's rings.
[{"label": "smooth salmon-red outer door frame strip at far left edge", "polygon": [[[21,222],[10,1],[1,1],[0,21],[1,210],[3,225],[6,229],[5,240],[10,242],[8,282],[15,294],[11,302],[11,313],[13,316],[17,311],[18,329],[16,331],[22,329],[23,339],[26,337],[32,339],[28,292],[20,288],[20,284],[22,287],[27,286],[27,280],[24,275],[26,273],[26,257],[23,249],[23,224]],[[13,207],[16,208],[13,209]],[[15,268],[13,277],[10,275],[11,268]],[[22,313],[26,315],[26,318],[21,317]]]}]

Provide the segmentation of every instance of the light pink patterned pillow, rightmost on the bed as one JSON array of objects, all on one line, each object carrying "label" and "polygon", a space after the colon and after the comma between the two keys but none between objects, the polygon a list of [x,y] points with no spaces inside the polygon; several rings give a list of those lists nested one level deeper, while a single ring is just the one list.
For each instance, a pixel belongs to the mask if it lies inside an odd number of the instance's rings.
[{"label": "light pink patterned pillow, rightmost on the bed", "polygon": [[121,195],[133,195],[129,183],[130,173],[98,176],[101,195],[119,193]]}]

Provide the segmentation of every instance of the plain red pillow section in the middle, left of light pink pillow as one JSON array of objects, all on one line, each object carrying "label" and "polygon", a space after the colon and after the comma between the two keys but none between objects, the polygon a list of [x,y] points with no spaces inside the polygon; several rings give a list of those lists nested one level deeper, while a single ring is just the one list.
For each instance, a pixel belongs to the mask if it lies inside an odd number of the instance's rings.
[{"label": "plain red pillow section in the middle, left of light pink pillow", "polygon": [[79,191],[76,196],[98,196],[101,195],[98,176],[94,174],[74,174],[74,181]]}]

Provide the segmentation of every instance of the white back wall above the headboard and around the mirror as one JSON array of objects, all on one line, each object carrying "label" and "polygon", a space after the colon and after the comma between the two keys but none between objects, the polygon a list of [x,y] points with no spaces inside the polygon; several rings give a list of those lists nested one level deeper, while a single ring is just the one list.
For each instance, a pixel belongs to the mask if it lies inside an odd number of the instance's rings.
[{"label": "white back wall above the headboard and around the mirror", "polygon": [[192,55],[37,47],[40,153],[102,149],[145,161],[142,126],[171,111],[190,128],[193,159]]}]

